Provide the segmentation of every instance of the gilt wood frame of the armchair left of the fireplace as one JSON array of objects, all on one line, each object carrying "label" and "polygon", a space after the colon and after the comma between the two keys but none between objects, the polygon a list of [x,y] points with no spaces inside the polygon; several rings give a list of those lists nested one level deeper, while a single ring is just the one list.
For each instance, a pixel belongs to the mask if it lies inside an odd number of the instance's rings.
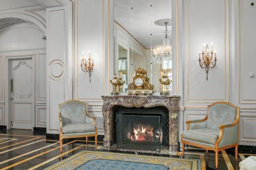
[{"label": "gilt wood frame of the armchair left of the fireplace", "polygon": [[[63,133],[62,133],[61,106],[64,105],[64,104],[66,104],[66,103],[69,103],[69,102],[78,102],[78,103],[81,103],[81,104],[85,105],[85,108],[86,108],[86,116],[88,116],[89,118],[93,119],[93,124],[95,125],[95,134],[83,134],[83,135],[67,135],[67,136],[63,136]],[[63,139],[79,138],[79,137],[85,137],[85,138],[86,138],[86,144],[87,144],[87,143],[88,143],[88,137],[94,136],[94,137],[95,137],[95,148],[97,149],[98,129],[97,129],[97,127],[96,127],[96,121],[95,121],[96,118],[89,116],[89,114],[88,114],[88,108],[87,108],[87,103],[84,103],[84,102],[79,101],[79,100],[68,100],[68,101],[65,101],[65,102],[59,104],[58,113],[59,113],[59,145],[60,145],[60,152],[62,152],[62,140],[63,140]]]}]

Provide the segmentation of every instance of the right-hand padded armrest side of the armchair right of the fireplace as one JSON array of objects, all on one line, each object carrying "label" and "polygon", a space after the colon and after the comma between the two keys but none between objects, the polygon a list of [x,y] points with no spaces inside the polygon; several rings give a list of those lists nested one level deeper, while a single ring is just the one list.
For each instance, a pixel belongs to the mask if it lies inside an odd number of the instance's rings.
[{"label": "right-hand padded armrest side of the armchair right of the fireplace", "polygon": [[238,121],[233,124],[219,125],[220,134],[216,141],[218,147],[225,147],[238,143]]}]

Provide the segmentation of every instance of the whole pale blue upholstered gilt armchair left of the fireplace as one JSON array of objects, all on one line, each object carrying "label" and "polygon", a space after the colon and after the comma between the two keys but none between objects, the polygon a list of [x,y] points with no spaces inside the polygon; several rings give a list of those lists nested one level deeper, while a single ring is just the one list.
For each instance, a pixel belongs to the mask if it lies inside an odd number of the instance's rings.
[{"label": "whole pale blue upholstered gilt armchair left of the fireplace", "polygon": [[69,100],[59,104],[59,145],[62,152],[62,140],[66,138],[95,136],[97,149],[98,130],[95,118],[88,115],[87,104],[79,100]]}]

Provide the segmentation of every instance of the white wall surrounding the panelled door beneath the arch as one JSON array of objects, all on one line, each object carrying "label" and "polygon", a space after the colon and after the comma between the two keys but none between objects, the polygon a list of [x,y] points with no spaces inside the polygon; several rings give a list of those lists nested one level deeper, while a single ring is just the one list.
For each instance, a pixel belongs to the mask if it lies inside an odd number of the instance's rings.
[{"label": "white wall surrounding the panelled door beneath the arch", "polygon": [[46,41],[43,31],[31,23],[14,24],[0,32],[0,125],[7,125],[5,97],[5,58],[8,56],[36,56],[35,125],[46,127]]}]

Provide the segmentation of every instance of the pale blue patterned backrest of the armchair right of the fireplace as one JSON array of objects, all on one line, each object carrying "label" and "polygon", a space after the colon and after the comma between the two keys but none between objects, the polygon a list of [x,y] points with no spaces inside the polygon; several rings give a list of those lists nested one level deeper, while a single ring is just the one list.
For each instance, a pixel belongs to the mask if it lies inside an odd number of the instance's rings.
[{"label": "pale blue patterned backrest of the armchair right of the fireplace", "polygon": [[235,105],[228,102],[215,102],[208,106],[207,128],[219,129],[219,125],[232,124],[237,117]]}]

